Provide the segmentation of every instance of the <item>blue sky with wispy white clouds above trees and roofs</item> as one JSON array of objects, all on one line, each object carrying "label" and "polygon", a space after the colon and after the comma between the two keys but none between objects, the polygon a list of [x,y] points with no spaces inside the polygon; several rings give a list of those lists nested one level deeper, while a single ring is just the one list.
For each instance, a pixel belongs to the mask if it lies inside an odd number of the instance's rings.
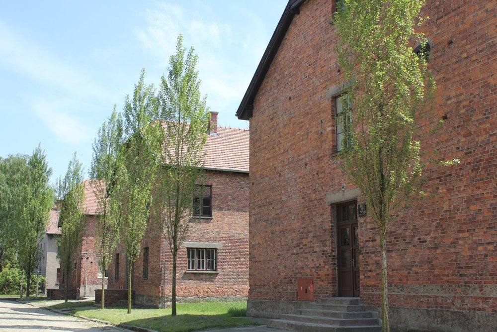
[{"label": "blue sky with wispy white clouds above trees and roofs", "polygon": [[64,176],[87,172],[98,128],[122,110],[142,68],[159,85],[176,39],[195,48],[201,93],[218,125],[235,116],[287,0],[19,0],[0,2],[0,156],[41,144]]}]

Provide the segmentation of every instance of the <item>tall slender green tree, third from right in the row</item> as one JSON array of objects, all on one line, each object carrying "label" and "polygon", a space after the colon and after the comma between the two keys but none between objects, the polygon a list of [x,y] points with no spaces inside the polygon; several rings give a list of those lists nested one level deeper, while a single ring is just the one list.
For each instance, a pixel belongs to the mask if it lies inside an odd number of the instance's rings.
[{"label": "tall slender green tree, third from right in the row", "polygon": [[116,158],[115,181],[109,200],[110,215],[119,221],[121,241],[129,261],[128,314],[131,313],[133,263],[150,217],[152,185],[161,149],[157,98],[153,85],[145,85],[145,70],[135,85],[133,98],[125,99],[123,144]]}]

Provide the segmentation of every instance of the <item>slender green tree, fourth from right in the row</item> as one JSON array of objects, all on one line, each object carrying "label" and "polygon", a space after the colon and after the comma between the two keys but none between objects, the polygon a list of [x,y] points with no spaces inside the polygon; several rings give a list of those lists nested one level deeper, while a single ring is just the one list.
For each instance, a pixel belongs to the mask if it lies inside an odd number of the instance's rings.
[{"label": "slender green tree, fourth from right in the row", "polygon": [[102,271],[101,309],[105,300],[105,270],[112,261],[112,252],[119,242],[119,222],[109,212],[109,196],[113,191],[116,159],[122,145],[122,116],[114,110],[98,129],[93,142],[93,158],[91,161],[90,178],[98,199],[99,216],[95,225],[95,248],[100,252],[98,266]]}]

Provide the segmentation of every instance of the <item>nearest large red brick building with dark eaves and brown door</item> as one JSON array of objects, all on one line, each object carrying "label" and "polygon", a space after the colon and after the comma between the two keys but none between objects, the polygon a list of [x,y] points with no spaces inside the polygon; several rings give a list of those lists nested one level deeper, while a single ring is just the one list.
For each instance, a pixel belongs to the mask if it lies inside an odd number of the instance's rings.
[{"label": "nearest large red brick building with dark eaves and brown door", "polygon": [[[367,212],[357,217],[363,199],[337,155],[345,82],[330,22],[334,2],[288,2],[237,111],[251,132],[251,316],[298,310],[300,278],[312,279],[315,302],[380,303],[378,231]],[[497,2],[426,1],[422,12],[430,17],[423,31],[437,82],[434,105],[417,122],[422,149],[461,162],[429,166],[428,196],[390,224],[391,325],[495,331]],[[431,134],[442,117],[444,127]]]}]

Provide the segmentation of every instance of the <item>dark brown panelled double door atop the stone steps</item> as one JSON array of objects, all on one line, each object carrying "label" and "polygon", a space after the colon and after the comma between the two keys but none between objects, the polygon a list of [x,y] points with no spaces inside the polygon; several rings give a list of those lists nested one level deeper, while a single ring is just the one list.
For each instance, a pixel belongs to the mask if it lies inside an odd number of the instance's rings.
[{"label": "dark brown panelled double door atop the stone steps", "polygon": [[360,295],[357,201],[336,206],[338,296]]}]

